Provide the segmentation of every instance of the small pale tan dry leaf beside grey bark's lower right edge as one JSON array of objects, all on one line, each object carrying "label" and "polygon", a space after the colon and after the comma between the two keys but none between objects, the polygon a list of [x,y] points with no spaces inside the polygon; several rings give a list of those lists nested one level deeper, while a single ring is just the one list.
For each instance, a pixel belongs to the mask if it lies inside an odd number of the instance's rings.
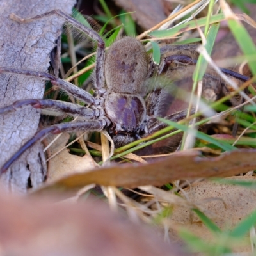
[{"label": "small pale tan dry leaf beside grey bark's lower right edge", "polygon": [[[52,140],[52,137],[49,137],[49,141]],[[62,134],[50,148],[51,155],[64,148],[68,138],[69,134]],[[74,173],[84,173],[86,170],[92,170],[95,167],[97,165],[94,163],[92,157],[87,155],[83,157],[74,156],[69,154],[67,148],[65,148],[49,161],[47,182],[54,182],[54,180]]]}]

